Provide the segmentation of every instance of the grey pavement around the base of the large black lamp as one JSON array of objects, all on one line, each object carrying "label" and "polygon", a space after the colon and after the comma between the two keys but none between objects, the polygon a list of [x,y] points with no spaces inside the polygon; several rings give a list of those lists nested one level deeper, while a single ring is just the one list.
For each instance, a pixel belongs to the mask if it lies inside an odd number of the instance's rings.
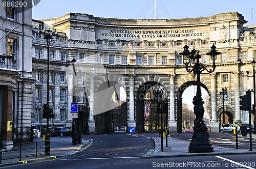
[{"label": "grey pavement around the base of the large black lamp", "polygon": [[[235,136],[235,135],[233,135]],[[243,137],[242,135],[238,136],[239,138],[248,138],[247,136]],[[142,155],[142,158],[156,158],[156,157],[177,157],[177,156],[195,156],[195,155],[220,155],[220,154],[254,154],[256,150],[249,151],[249,149],[228,149],[228,148],[221,148],[214,146],[214,152],[211,153],[189,153],[188,146],[190,142],[186,142],[180,139],[172,138],[172,135],[168,137],[167,143],[168,147],[165,147],[166,140],[163,140],[163,149],[164,151],[161,152],[161,137],[153,137],[155,142],[155,151],[153,153],[148,153]],[[252,134],[252,139],[256,139],[256,135]]]}]

